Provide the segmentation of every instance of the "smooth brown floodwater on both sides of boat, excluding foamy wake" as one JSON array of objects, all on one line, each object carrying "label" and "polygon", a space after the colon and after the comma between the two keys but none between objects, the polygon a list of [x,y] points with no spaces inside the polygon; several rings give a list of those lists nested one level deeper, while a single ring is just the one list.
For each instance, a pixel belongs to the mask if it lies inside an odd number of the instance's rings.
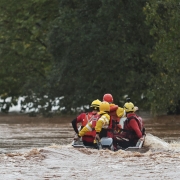
[{"label": "smooth brown floodwater on both sides of boat, excluding foamy wake", "polygon": [[[141,116],[147,133],[166,142],[180,141],[179,116],[160,116],[156,119],[147,114]],[[73,116],[42,118],[27,115],[1,115],[1,152],[46,147],[52,144],[70,144],[75,134],[71,125],[73,118]]]}]

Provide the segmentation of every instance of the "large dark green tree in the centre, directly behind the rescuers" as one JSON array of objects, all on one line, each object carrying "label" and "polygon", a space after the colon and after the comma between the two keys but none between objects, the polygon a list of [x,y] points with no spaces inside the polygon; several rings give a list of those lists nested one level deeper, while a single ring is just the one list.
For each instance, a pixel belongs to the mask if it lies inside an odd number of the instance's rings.
[{"label": "large dark green tree in the centre, directly behind the rescuers", "polygon": [[85,105],[104,93],[112,93],[120,105],[124,95],[143,103],[155,71],[144,5],[144,0],[60,1],[49,49],[55,64],[51,84],[65,97],[62,106]]}]

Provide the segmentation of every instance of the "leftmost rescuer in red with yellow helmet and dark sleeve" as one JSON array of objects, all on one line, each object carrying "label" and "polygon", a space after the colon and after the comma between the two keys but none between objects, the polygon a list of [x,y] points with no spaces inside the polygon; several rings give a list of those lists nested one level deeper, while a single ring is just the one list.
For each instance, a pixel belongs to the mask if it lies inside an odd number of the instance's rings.
[{"label": "leftmost rescuer in red with yellow helmet and dark sleeve", "polygon": [[[99,119],[99,106],[101,104],[100,100],[94,100],[91,103],[90,109],[91,112],[87,113],[81,113],[79,116],[77,116],[73,121],[72,121],[72,127],[76,133],[76,137],[74,140],[78,140],[80,138],[79,130],[77,128],[77,124],[81,124],[81,129],[85,127],[88,123],[93,124],[94,126],[96,125],[96,121]],[[89,131],[86,132],[86,134],[82,137],[83,144],[85,146],[94,146],[94,138],[96,136],[95,131]]]}]

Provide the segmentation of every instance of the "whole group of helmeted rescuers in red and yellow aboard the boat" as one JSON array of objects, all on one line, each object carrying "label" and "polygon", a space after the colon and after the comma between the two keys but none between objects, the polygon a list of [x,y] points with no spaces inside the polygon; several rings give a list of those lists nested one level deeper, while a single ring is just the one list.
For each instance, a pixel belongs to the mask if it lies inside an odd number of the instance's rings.
[{"label": "whole group of helmeted rescuers in red and yellow aboard the boat", "polygon": [[[76,133],[75,141],[82,138],[85,146],[95,147],[95,142],[100,141],[102,137],[110,137],[113,139],[114,149],[118,150],[136,146],[139,139],[144,140],[145,128],[142,118],[135,114],[138,107],[130,100],[121,108],[113,104],[111,94],[105,94],[102,102],[97,99],[91,103],[90,110],[72,120]],[[120,125],[122,117],[126,117],[123,128]],[[79,123],[81,129],[78,129]]]}]

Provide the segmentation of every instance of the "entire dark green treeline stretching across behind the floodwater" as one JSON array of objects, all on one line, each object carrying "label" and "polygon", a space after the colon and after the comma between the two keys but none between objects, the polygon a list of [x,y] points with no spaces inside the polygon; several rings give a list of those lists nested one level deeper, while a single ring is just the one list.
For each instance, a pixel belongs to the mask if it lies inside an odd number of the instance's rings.
[{"label": "entire dark green treeline stretching across behind the floodwater", "polygon": [[[180,100],[177,0],[31,0],[0,2],[1,111],[47,115],[128,96],[153,113],[177,113]],[[12,97],[11,102],[6,102]]]}]

